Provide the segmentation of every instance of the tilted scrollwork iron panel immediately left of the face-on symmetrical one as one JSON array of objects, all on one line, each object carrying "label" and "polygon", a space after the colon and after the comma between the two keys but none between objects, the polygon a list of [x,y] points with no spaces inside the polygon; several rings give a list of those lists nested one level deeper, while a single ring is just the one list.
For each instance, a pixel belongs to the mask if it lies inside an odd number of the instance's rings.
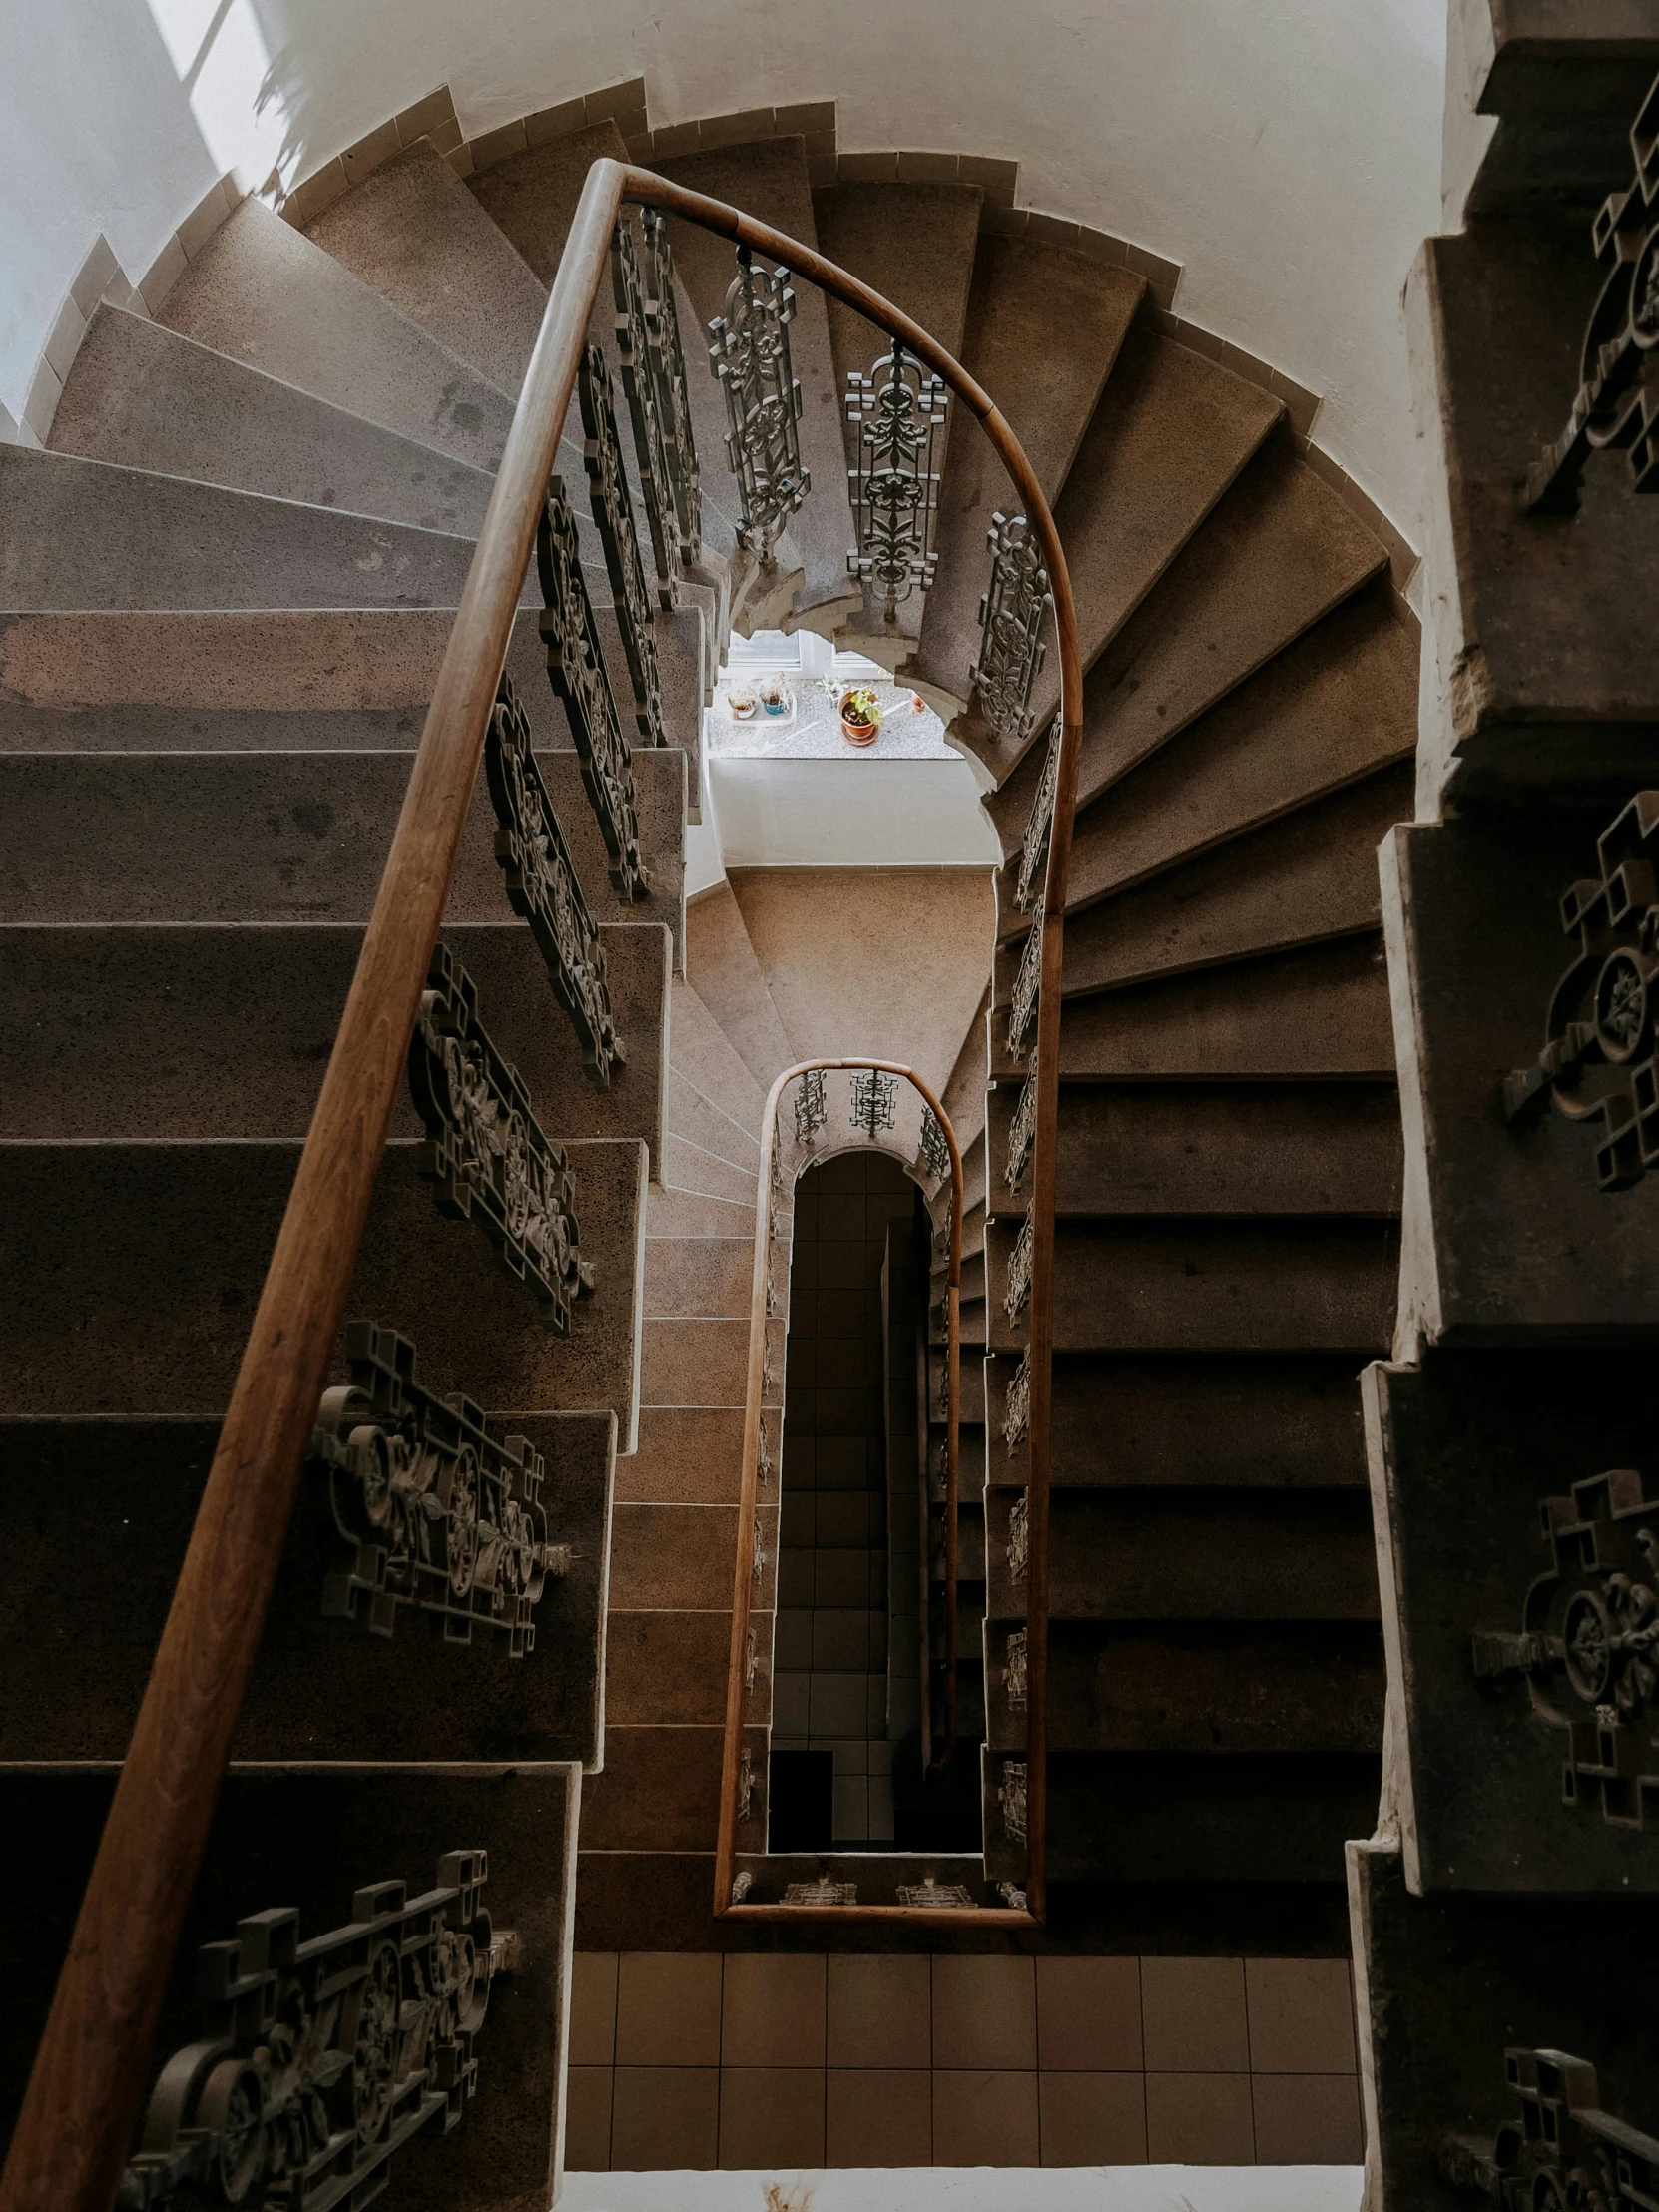
[{"label": "tilted scrollwork iron panel immediately left of the face-on symmetrical one", "polygon": [[812,489],[801,462],[801,385],[790,367],[794,288],[790,272],[765,268],[737,248],[726,310],[708,325],[708,363],[726,394],[726,458],[737,478],[739,544],[763,562]]}]

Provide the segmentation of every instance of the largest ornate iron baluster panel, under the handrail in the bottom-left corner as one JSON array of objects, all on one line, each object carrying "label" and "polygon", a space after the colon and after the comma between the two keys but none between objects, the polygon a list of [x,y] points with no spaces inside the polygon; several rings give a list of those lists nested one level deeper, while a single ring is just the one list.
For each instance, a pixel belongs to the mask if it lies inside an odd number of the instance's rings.
[{"label": "largest ornate iron baluster panel, under the handrail in the bottom-left corner", "polygon": [[288,1907],[197,1953],[201,2037],[161,2068],[117,2203],[330,2212],[378,2197],[411,2135],[449,2135],[478,2088],[489,1984],[515,1964],[482,1907],[484,1851],[438,1887],[372,1882],[352,1920],[299,1940]]}]

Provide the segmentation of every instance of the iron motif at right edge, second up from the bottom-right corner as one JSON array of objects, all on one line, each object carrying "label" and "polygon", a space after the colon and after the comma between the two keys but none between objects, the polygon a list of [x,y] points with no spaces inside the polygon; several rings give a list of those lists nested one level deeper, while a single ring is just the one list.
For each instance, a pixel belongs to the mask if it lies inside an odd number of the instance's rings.
[{"label": "iron motif at right edge, second up from the bottom-right corner", "polygon": [[1475,1674],[1524,1674],[1533,1712],[1566,1730],[1562,1801],[1613,1827],[1659,1814],[1659,1495],[1635,1469],[1575,1482],[1540,1506],[1553,1566],[1526,1593],[1520,1635],[1473,1637]]}]

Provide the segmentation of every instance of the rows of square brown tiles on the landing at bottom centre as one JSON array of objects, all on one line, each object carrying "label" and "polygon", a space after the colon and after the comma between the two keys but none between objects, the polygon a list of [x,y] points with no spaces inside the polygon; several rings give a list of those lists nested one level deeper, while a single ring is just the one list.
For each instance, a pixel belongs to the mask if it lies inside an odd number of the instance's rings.
[{"label": "rows of square brown tiles on the landing at bottom centre", "polygon": [[573,2172],[1358,2159],[1345,1960],[575,1960]]}]

